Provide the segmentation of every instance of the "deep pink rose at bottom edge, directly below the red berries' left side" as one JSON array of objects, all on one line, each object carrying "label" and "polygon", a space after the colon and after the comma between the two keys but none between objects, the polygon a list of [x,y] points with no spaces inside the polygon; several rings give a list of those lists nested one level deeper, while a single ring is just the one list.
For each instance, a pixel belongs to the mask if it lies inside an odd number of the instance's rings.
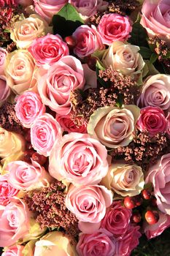
[{"label": "deep pink rose at bottom edge, directly below the red berries' left side", "polygon": [[129,226],[123,238],[118,241],[118,255],[130,256],[131,252],[139,244],[142,234],[139,232],[140,226]]}]

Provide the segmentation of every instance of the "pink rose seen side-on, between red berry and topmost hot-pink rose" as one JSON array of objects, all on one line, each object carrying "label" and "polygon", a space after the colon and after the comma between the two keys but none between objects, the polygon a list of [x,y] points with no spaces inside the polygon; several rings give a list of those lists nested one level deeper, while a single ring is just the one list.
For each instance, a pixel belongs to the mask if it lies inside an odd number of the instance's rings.
[{"label": "pink rose seen side-on, between red berry and topmost hot-pink rose", "polygon": [[95,50],[104,49],[104,45],[101,42],[101,36],[96,31],[96,26],[79,26],[72,36],[77,42],[74,48],[74,53],[81,59],[92,54]]}]

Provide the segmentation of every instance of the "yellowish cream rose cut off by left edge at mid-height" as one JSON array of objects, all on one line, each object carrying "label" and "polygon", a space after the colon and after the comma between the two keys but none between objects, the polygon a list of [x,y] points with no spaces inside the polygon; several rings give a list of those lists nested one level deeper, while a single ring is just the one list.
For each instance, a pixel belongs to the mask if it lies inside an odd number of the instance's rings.
[{"label": "yellowish cream rose cut off by left edge at mid-height", "polygon": [[0,157],[6,158],[12,154],[23,151],[25,140],[15,132],[8,132],[0,127]]}]

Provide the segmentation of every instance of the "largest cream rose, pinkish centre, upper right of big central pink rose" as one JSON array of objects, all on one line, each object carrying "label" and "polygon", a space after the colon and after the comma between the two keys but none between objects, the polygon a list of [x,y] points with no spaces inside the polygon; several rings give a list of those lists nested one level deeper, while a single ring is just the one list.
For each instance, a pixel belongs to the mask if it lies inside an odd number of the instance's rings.
[{"label": "largest cream rose, pinkish centre, upper right of big central pink rose", "polygon": [[134,138],[139,113],[136,105],[98,108],[90,116],[88,134],[109,148],[127,146]]}]

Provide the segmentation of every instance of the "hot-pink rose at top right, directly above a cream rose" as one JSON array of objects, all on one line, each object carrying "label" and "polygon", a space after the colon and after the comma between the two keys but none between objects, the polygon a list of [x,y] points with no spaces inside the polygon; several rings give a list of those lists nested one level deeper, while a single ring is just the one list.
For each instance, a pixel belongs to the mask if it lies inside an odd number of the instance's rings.
[{"label": "hot-pink rose at top right, directly above a cream rose", "polygon": [[125,41],[130,37],[131,29],[128,17],[116,13],[103,15],[98,24],[98,33],[105,45],[112,45],[115,41]]}]

